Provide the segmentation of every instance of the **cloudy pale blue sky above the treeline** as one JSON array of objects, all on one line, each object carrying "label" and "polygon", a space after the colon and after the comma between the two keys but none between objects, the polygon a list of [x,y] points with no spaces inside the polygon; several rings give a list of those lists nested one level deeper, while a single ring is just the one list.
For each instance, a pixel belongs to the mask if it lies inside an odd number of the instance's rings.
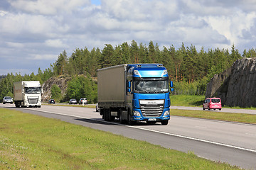
[{"label": "cloudy pale blue sky above the treeline", "polygon": [[0,75],[50,67],[63,50],[135,40],[176,49],[256,45],[253,0],[1,0]]}]

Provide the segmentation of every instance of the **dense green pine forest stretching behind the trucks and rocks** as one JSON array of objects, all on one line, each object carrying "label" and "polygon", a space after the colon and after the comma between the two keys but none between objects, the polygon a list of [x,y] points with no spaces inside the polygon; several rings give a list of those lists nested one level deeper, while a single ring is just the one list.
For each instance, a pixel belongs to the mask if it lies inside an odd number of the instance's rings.
[{"label": "dense green pine forest stretching behind the trucks and rocks", "polygon": [[[31,75],[25,74],[24,76],[17,73],[7,74],[0,82],[0,98],[12,96],[14,81],[39,80],[43,84],[50,77],[63,74],[71,77],[80,74],[97,77],[97,69],[124,63],[164,64],[164,67],[168,69],[169,78],[174,81],[176,90],[190,89],[204,94],[206,85],[214,74],[228,69],[233,62],[242,57],[256,57],[256,50],[253,48],[248,51],[244,50],[241,55],[233,45],[230,51],[219,48],[205,50],[203,47],[198,51],[194,45],[185,47],[183,43],[178,49],[171,45],[162,47],[160,50],[159,45],[152,41],[149,45],[142,43],[138,45],[134,40],[131,44],[123,42],[122,45],[115,47],[106,44],[102,50],[98,47],[92,50],[88,50],[87,47],[77,48],[70,56],[64,50],[48,69],[42,71],[39,68],[37,74],[31,73]],[[95,98],[97,99],[97,96]]]}]

